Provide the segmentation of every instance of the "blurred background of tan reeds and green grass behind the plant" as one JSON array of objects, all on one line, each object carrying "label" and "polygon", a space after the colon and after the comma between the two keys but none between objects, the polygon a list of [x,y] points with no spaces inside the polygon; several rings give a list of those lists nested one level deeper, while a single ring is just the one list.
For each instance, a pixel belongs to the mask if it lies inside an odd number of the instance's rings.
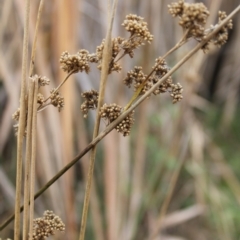
[{"label": "blurred background of tan reeds and green grass behind the plant", "polygon": [[[30,48],[39,0],[31,1]],[[142,66],[147,74],[155,58],[172,48],[182,29],[168,14],[170,0],[119,1],[113,37],[128,37],[121,26],[126,14],[144,17],[154,35],[126,56],[120,73],[109,77],[106,103],[126,105],[132,91],[127,71]],[[186,1],[194,2],[194,1]],[[219,10],[230,13],[239,0],[205,0],[208,26]],[[0,1],[0,223],[14,212],[16,137],[12,114],[19,106],[24,1]],[[165,93],[147,99],[135,112],[130,137],[112,131],[98,144],[86,239],[238,240],[240,239],[240,14],[233,19],[229,41],[209,54],[197,53],[174,76],[184,99],[175,105]],[[40,22],[35,73],[56,87],[65,77],[63,51],[95,52],[106,35],[107,1],[45,1]],[[171,67],[196,42],[167,58]],[[100,73],[70,77],[61,89],[62,112],[48,107],[38,114],[36,190],[91,141],[95,112],[80,111],[83,91],[98,89]],[[102,123],[101,129],[105,127]],[[35,217],[53,210],[66,224],[56,239],[77,239],[89,155],[36,200]],[[13,223],[1,233],[13,237]]]}]

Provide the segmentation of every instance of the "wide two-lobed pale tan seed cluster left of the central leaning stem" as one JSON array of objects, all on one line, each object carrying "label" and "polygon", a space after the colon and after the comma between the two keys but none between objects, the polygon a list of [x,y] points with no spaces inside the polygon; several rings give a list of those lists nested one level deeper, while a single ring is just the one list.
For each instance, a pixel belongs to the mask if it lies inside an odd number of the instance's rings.
[{"label": "wide two-lobed pale tan seed cluster left of the central leaning stem", "polygon": [[89,52],[85,49],[82,49],[78,53],[72,55],[65,51],[60,57],[61,68],[67,73],[71,71],[88,73],[90,71],[89,62]]}]

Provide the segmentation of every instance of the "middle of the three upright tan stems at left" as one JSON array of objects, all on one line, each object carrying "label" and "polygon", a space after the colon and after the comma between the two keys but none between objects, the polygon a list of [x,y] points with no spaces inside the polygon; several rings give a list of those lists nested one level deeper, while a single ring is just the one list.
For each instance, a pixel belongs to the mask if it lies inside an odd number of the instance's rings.
[{"label": "middle of the three upright tan stems at left", "polygon": [[23,214],[23,240],[27,239],[29,225],[29,189],[30,189],[30,166],[32,155],[32,113],[33,113],[33,96],[34,82],[31,80],[28,89],[28,108],[27,108],[27,137],[26,137],[26,162],[25,162],[25,179],[24,179],[24,214]]}]

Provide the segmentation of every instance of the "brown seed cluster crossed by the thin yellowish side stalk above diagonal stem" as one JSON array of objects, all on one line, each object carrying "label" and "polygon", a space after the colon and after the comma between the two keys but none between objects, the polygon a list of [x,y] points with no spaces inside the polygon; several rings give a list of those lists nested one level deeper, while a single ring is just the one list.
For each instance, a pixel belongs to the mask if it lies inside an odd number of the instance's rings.
[{"label": "brown seed cluster crossed by the thin yellowish side stalk above diagonal stem", "polygon": [[[145,75],[142,71],[142,67],[134,67],[133,70],[129,71],[127,73],[127,77],[123,79],[123,83],[127,85],[129,88],[133,84],[134,91],[136,91],[140,85],[146,80],[147,75]],[[151,78],[149,78],[149,81],[147,81],[144,84],[144,87],[140,94],[144,94],[147,90],[149,90],[152,87],[152,81]]]}]

